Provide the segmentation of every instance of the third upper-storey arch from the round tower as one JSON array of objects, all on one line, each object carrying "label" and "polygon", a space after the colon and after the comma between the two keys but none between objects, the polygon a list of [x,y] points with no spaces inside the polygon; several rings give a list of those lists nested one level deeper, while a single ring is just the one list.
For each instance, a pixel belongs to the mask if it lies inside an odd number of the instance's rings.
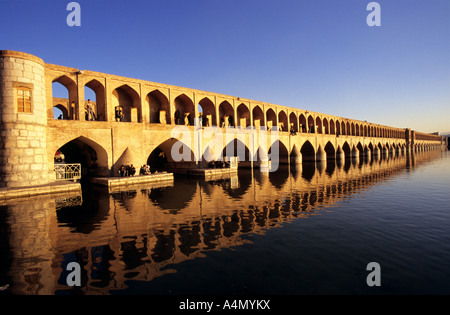
[{"label": "third upper-storey arch from the round tower", "polygon": [[141,105],[139,94],[129,85],[124,84],[112,92],[113,108],[120,106],[126,122],[141,121]]}]

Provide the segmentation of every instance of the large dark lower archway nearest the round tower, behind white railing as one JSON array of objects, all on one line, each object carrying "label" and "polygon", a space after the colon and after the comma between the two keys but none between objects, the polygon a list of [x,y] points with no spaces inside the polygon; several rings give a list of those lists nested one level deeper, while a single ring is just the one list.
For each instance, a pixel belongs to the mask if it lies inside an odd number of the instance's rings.
[{"label": "large dark lower archway nearest the round tower, behind white railing", "polygon": [[108,175],[108,154],[95,141],[81,136],[62,145],[57,151],[64,154],[66,164],[80,163],[82,176]]}]

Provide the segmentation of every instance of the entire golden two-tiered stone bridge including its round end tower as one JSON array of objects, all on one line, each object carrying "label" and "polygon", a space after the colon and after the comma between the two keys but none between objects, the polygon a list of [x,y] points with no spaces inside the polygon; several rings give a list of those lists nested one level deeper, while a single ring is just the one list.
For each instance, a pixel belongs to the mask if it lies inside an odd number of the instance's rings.
[{"label": "entire golden two-tiered stone bridge including its round end tower", "polygon": [[[445,145],[409,128],[53,65],[22,52],[0,51],[0,76],[3,187],[54,181],[57,151],[85,175],[117,176],[127,164],[179,170],[239,156],[239,167],[273,166]],[[53,96],[56,82],[66,99]],[[94,120],[86,115],[87,88]]]}]

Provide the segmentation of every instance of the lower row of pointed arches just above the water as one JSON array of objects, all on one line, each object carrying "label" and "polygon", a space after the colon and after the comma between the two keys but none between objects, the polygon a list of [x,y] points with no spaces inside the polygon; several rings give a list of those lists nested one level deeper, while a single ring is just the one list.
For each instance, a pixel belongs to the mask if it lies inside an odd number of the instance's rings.
[{"label": "lower row of pointed arches just above the water", "polygon": [[[188,153],[188,158],[186,161],[179,161],[173,158],[172,152],[173,147],[177,145],[181,153]],[[422,148],[427,148],[428,146],[423,146]],[[291,150],[289,150],[282,141],[276,140],[269,147],[268,152],[262,152],[262,148],[258,148],[256,152],[250,152],[249,148],[240,140],[234,139],[227,143],[222,149],[220,160],[225,159],[225,157],[239,157],[239,167],[249,167],[257,166],[263,160],[271,160],[272,164],[276,162],[279,164],[289,164],[298,163],[298,161],[323,161],[323,160],[334,160],[334,159],[349,159],[364,156],[371,156],[375,154],[386,154],[393,152],[400,152],[406,149],[405,144],[401,143],[382,143],[378,142],[372,144],[370,142],[368,145],[362,145],[358,142],[356,145],[350,145],[345,141],[342,145],[336,147],[331,141],[328,141],[324,146],[319,145],[315,147],[310,141],[305,141],[301,146],[294,145]],[[128,150],[128,149],[127,149]],[[198,163],[208,162],[205,161],[207,156],[208,147],[204,148],[203,160],[198,161]],[[276,151],[274,151],[276,150]],[[419,149],[420,150],[420,149]],[[265,150],[264,150],[265,151]],[[277,154],[272,154],[276,152]],[[170,170],[171,168],[179,167],[180,164],[189,162],[192,165],[188,165],[188,168],[195,167],[194,153],[192,150],[182,143],[180,140],[170,138],[162,142],[156,148],[154,148],[146,158],[142,160],[127,160],[130,154],[123,152],[117,161],[114,161],[114,165],[108,165],[108,155],[109,153],[95,141],[85,138],[78,137],[73,139],[66,144],[58,148],[57,152],[62,152],[64,156],[63,163],[80,163],[82,165],[82,175],[83,176],[117,176],[118,169],[121,165],[127,164],[129,162],[134,163],[136,167],[140,165],[147,164],[150,166],[152,172]],[[378,153],[379,152],[379,153]],[[186,156],[186,154],[181,154]],[[251,163],[249,163],[251,162]],[[253,163],[253,165],[252,165]],[[186,167],[184,165],[183,167]]]}]

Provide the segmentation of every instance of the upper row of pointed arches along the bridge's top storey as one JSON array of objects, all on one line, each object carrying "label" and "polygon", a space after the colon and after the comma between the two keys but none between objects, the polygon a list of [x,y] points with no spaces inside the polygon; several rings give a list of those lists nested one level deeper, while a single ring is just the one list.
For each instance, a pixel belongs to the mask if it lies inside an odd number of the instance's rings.
[{"label": "upper row of pointed arches along the bridge's top storey", "polygon": [[[53,85],[62,85],[66,89],[66,104],[54,103],[54,109],[60,111],[54,118],[84,120],[85,104],[77,103],[78,88],[75,81],[68,76],[60,76],[52,81]],[[59,86],[60,90],[61,87]],[[117,110],[121,111],[124,122],[146,122],[152,124],[176,124],[241,127],[256,129],[277,129],[279,131],[296,133],[317,133],[329,135],[345,135],[360,137],[398,138],[405,139],[405,130],[374,125],[366,122],[353,121],[345,118],[324,117],[307,111],[278,110],[275,107],[265,108],[255,105],[250,107],[246,102],[233,105],[231,101],[223,100],[218,105],[208,96],[194,103],[185,93],[177,95],[171,102],[162,90],[154,89],[143,96],[130,85],[123,84],[111,92],[108,114],[105,85],[97,79],[91,79],[84,84],[85,101],[91,99],[95,120],[109,121],[116,119]],[[54,86],[54,90],[56,87]],[[64,99],[57,95],[59,99]],[[55,94],[53,94],[55,97]],[[108,98],[109,99],[109,98]],[[145,108],[142,108],[145,106]],[[144,115],[145,112],[145,115]],[[144,118],[145,116],[145,118]]]}]

